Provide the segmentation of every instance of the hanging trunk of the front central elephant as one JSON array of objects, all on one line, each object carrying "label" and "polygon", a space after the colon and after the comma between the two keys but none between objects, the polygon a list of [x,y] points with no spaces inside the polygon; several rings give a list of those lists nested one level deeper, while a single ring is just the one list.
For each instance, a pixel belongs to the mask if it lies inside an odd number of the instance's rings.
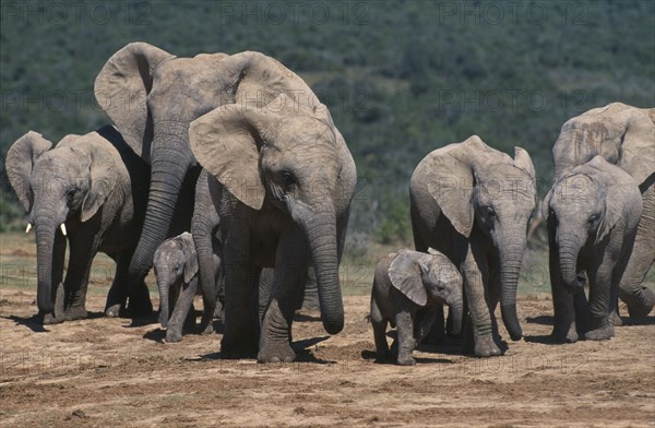
[{"label": "hanging trunk of the front central elephant", "polygon": [[334,209],[310,214],[301,225],[313,258],[323,328],[327,333],[336,334],[344,328],[344,305],[338,280]]}]

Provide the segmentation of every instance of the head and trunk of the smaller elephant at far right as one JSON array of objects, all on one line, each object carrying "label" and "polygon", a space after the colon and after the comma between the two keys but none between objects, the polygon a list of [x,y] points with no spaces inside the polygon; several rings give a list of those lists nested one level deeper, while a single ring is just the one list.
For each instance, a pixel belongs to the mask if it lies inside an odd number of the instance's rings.
[{"label": "head and trunk of the smaller elephant at far right", "polygon": [[[555,182],[544,200],[544,210],[556,227],[562,281],[571,293],[584,285],[577,274],[580,251],[590,240],[603,241],[619,224],[639,218],[641,193],[623,169],[595,156]],[[635,221],[636,222],[636,221]]]}]

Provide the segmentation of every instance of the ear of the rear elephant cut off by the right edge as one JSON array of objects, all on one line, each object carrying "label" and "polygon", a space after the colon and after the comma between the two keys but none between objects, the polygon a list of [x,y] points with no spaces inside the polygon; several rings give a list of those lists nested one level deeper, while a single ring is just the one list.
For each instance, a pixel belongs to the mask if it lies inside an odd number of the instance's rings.
[{"label": "ear of the rear elephant cut off by the right edge", "polygon": [[626,118],[628,126],[622,138],[618,165],[628,171],[639,186],[655,173],[655,108],[646,112],[630,108],[621,114],[629,117]]}]

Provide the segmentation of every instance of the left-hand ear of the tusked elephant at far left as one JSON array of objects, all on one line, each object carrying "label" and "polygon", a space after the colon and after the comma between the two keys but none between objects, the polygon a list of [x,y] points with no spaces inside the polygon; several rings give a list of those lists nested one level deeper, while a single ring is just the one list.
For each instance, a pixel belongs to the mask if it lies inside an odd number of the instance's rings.
[{"label": "left-hand ear of the tusked elephant at far left", "polygon": [[25,211],[32,210],[34,195],[29,189],[32,168],[36,159],[50,150],[52,143],[37,132],[29,131],[16,140],[7,152],[4,168],[11,187],[16,192]]}]

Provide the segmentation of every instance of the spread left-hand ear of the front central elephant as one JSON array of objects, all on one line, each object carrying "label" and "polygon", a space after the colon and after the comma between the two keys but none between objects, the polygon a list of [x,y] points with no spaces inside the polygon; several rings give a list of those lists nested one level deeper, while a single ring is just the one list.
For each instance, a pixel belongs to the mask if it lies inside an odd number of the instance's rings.
[{"label": "spread left-hand ear of the front central elephant", "polygon": [[195,119],[189,143],[198,162],[239,201],[253,210],[264,202],[259,148],[281,117],[267,109],[230,104]]}]

